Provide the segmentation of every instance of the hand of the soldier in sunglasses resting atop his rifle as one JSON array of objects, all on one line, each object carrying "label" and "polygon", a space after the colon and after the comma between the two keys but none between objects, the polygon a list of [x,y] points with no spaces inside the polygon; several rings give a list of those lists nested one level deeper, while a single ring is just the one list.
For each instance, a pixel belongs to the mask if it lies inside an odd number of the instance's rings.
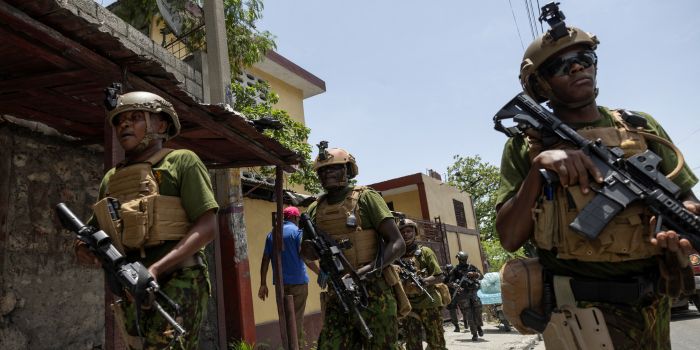
[{"label": "hand of the soldier in sunglasses resting atop his rifle", "polygon": [[532,160],[532,168],[545,169],[559,176],[559,183],[564,186],[579,185],[582,193],[588,193],[589,174],[593,179],[603,182],[603,174],[593,164],[593,161],[581,150],[547,150],[538,154]]}]

